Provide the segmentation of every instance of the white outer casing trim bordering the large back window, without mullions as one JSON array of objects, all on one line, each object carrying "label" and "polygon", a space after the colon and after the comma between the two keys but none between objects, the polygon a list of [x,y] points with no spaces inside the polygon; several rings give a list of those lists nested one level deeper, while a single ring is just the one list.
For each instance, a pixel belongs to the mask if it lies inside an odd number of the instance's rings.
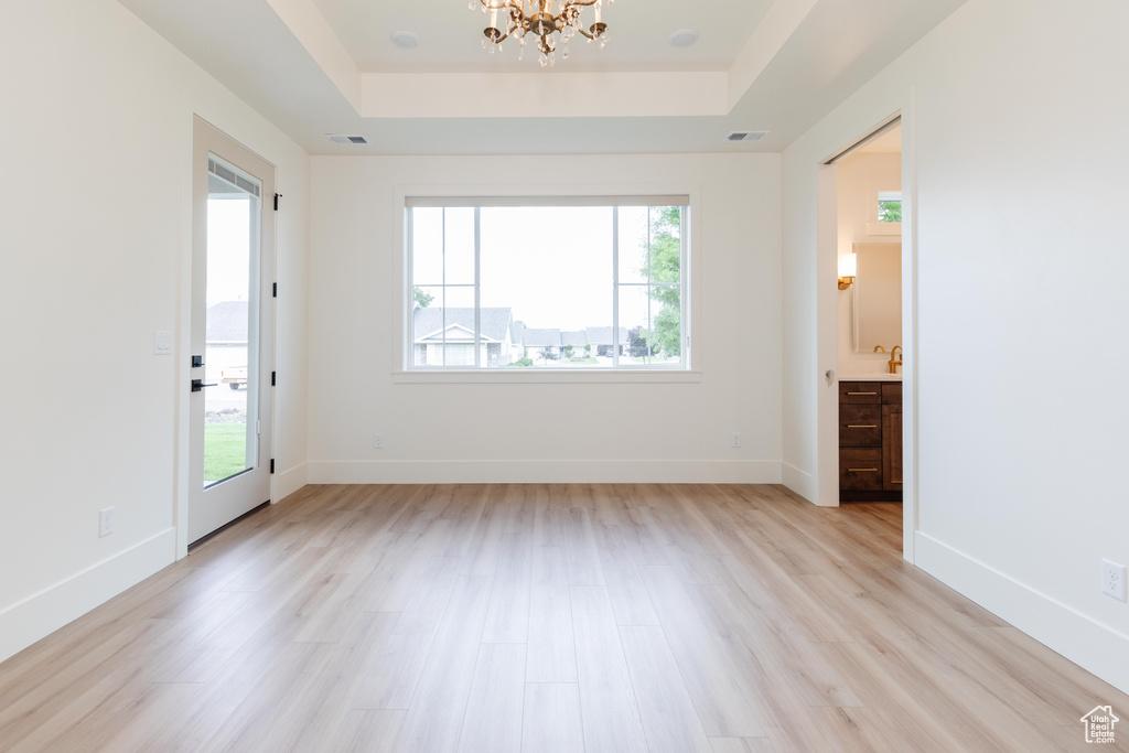
[{"label": "white outer casing trim bordering the large back window, without mullions", "polygon": [[[399,253],[394,255],[394,273],[390,275],[393,289],[388,300],[394,301],[393,348],[388,353],[390,376],[399,384],[473,384],[473,383],[694,383],[701,380],[702,365],[706,362],[706,349],[697,316],[700,290],[702,261],[704,257],[700,233],[700,186],[695,183],[676,184],[615,184],[615,185],[496,185],[483,191],[481,185],[450,184],[397,184],[394,187],[393,217],[395,242]],[[431,199],[432,203],[450,196],[461,196],[466,201],[493,202],[507,200],[514,203],[549,205],[561,199],[589,200],[589,205],[609,205],[607,200],[631,200],[646,198],[649,201],[671,196],[686,196],[685,205],[689,212],[683,213],[685,226],[682,231],[683,270],[682,270],[682,329],[685,339],[684,361],[676,366],[648,366],[631,368],[589,367],[584,369],[566,369],[541,367],[537,369],[489,369],[465,367],[432,367],[426,370],[410,368],[412,359],[412,338],[409,332],[409,316],[405,297],[409,294],[410,269],[408,266],[410,249],[410,228],[408,219],[409,198],[413,201]],[[422,205],[422,204],[418,204]],[[510,204],[513,205],[513,204]],[[658,205],[658,204],[654,204]],[[476,249],[478,252],[479,249]],[[478,253],[475,254],[478,259]],[[616,270],[618,275],[618,270]],[[478,291],[478,269],[475,268],[475,290]],[[476,294],[478,295],[478,294]],[[618,296],[616,296],[618,299]],[[478,301],[476,301],[478,303]]]}]

